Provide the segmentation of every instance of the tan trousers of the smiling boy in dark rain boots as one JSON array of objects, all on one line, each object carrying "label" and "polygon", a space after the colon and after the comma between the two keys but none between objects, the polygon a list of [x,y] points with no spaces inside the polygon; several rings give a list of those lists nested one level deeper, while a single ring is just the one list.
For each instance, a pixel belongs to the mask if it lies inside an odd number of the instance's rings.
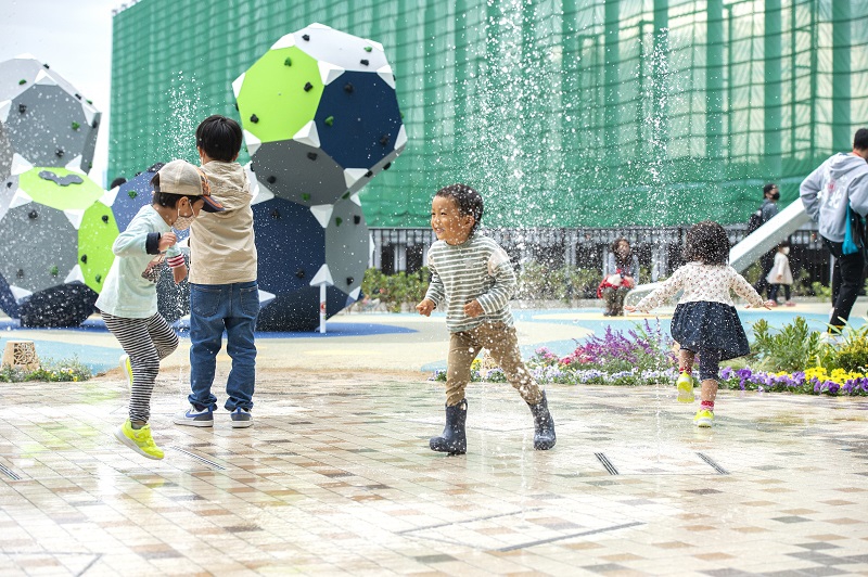
[{"label": "tan trousers of the smiling boy in dark rain boots", "polygon": [[452,407],[464,398],[464,388],[470,383],[470,366],[483,348],[488,349],[506,374],[507,382],[519,390],[526,402],[537,405],[542,400],[542,390],[522,362],[515,328],[498,322],[483,323],[470,331],[451,334],[449,366],[446,370],[446,405]]}]

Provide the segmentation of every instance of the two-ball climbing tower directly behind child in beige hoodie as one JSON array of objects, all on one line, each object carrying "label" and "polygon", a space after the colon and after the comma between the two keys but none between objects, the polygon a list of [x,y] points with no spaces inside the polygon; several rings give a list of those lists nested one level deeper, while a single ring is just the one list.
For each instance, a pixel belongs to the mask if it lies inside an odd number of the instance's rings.
[{"label": "two-ball climbing tower directly behind child in beige hoodie", "polygon": [[255,194],[257,326],[312,330],[321,309],[359,298],[370,238],[358,192],[407,144],[395,77],[380,43],[311,24],[232,88]]}]

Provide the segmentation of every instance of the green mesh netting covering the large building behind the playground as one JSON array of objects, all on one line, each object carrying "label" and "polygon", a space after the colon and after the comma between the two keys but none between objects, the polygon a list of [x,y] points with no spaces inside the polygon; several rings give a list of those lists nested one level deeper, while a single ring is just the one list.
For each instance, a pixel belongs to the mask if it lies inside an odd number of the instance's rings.
[{"label": "green mesh netting covering the large building behind the playground", "polygon": [[744,221],[868,124],[861,0],[142,0],[114,18],[110,179],[196,159],[232,80],[312,22],[397,76],[410,141],[361,193],[373,227],[425,226],[455,181],[489,227]]}]

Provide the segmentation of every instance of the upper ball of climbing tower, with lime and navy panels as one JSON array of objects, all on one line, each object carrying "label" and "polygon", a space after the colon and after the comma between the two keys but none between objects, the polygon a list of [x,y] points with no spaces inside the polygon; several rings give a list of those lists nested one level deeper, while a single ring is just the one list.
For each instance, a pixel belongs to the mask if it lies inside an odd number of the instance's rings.
[{"label": "upper ball of climbing tower, with lime and navy panels", "polygon": [[275,42],[232,88],[253,168],[286,201],[346,200],[407,144],[382,44],[321,24]]}]

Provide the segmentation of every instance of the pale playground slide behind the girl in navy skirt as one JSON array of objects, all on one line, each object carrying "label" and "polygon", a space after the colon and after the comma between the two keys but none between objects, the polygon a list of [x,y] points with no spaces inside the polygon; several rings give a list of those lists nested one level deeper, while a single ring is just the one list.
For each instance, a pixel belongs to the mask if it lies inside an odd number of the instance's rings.
[{"label": "pale playground slide behind the girl in navy skirt", "polygon": [[[778,243],[810,222],[805,213],[802,198],[796,198],[790,206],[778,213],[768,222],[753,231],[743,241],[729,251],[729,264],[739,272],[760,260],[760,257],[775,248]],[[636,304],[640,298],[660,286],[660,283],[648,283],[636,286],[627,294],[626,303]]]}]

